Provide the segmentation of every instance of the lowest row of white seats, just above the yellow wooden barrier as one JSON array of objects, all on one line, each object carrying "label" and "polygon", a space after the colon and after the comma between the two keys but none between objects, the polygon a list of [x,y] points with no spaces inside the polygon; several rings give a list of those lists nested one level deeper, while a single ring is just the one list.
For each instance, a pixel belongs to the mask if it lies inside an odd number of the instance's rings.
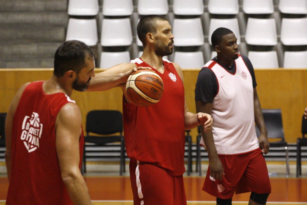
[{"label": "lowest row of white seats, just above the yellow wooden barrier", "polygon": [[[142,55],[139,51],[138,56]],[[174,52],[174,62],[178,63],[181,68],[201,68],[204,66],[204,54],[202,51],[195,52]],[[212,51],[211,59],[216,56]],[[307,51],[285,51],[284,68],[307,68]],[[167,59],[167,56],[165,56]],[[249,51],[248,58],[255,68],[279,68],[276,51]],[[100,68],[109,68],[119,63],[130,61],[129,51],[122,52],[102,52],[100,58]]]}]

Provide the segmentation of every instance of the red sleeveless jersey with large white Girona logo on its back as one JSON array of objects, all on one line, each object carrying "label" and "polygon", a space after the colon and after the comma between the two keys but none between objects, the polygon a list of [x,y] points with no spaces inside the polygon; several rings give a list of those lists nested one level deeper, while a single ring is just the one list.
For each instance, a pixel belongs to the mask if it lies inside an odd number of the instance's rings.
[{"label": "red sleeveless jersey with large white Girona logo on its back", "polygon": [[[47,95],[43,82],[30,83],[16,108],[12,130],[12,167],[6,204],[70,205],[56,154],[55,122],[72,101],[64,93]],[[80,167],[84,138],[80,137]]]}]

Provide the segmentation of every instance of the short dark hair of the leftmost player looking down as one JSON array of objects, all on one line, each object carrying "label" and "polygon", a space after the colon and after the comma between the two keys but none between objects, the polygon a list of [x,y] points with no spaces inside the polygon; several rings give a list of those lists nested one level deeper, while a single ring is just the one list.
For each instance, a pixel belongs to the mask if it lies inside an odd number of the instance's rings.
[{"label": "short dark hair of the leftmost player looking down", "polygon": [[84,68],[85,59],[94,59],[94,52],[89,46],[78,40],[63,43],[54,55],[53,74],[62,77],[68,70],[77,74]]}]

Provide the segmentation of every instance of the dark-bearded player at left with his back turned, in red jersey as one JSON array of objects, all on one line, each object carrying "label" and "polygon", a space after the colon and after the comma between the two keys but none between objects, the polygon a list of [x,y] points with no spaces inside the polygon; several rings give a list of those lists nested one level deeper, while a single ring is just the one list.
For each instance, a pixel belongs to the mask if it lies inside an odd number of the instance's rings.
[{"label": "dark-bearded player at left with his back turned, in red jersey", "polygon": [[[134,66],[135,67],[135,66]],[[26,83],[15,95],[6,116],[6,204],[91,204],[80,173],[84,146],[81,113],[72,91],[84,91],[94,73],[91,49],[76,40],[55,53],[47,81]],[[100,87],[127,81],[124,74],[100,74]]]}]

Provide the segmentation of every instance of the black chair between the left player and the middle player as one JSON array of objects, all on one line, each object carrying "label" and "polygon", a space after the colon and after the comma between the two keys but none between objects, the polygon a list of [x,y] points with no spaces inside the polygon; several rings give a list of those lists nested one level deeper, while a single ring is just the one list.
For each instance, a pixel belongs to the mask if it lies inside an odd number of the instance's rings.
[{"label": "black chair between the left player and the middle player", "polygon": [[[91,143],[92,146],[107,146],[112,142],[120,142],[120,169],[119,173],[125,172],[125,142],[122,135],[123,122],[122,113],[116,110],[93,110],[87,113],[86,117],[86,132],[84,141]],[[100,136],[91,135],[91,133]],[[111,135],[116,134],[118,135]],[[107,135],[107,136],[101,136]],[[111,136],[110,136],[111,135]],[[84,144],[83,152],[83,170],[86,173],[86,147]]]}]

